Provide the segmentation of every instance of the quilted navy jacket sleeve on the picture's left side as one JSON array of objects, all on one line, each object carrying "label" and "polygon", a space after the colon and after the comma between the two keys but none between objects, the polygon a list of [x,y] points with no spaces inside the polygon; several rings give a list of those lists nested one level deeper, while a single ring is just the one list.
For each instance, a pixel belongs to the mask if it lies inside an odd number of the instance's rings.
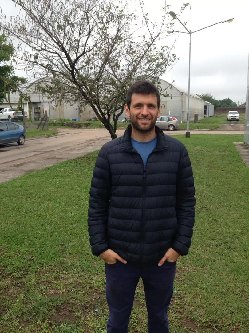
[{"label": "quilted navy jacket sleeve on the picture's left side", "polygon": [[111,194],[109,163],[104,148],[97,157],[90,189],[88,232],[92,253],[96,256],[108,249],[107,218]]}]

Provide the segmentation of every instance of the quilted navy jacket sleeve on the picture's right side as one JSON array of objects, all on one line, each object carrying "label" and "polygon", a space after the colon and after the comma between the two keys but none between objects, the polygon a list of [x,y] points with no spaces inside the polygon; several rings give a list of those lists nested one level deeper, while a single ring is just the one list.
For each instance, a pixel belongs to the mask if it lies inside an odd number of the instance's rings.
[{"label": "quilted navy jacket sleeve on the picture's right side", "polygon": [[187,149],[183,147],[179,162],[176,192],[177,233],[172,248],[187,255],[195,223],[195,187]]}]

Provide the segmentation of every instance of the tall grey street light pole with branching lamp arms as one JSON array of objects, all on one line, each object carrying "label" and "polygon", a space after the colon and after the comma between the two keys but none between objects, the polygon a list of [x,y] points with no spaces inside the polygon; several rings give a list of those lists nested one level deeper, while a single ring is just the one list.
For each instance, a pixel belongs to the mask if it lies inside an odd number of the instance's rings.
[{"label": "tall grey street light pole with branching lamp arms", "polygon": [[190,138],[190,132],[189,132],[189,122],[190,122],[190,64],[191,64],[191,35],[194,33],[194,32],[197,32],[197,31],[200,31],[200,30],[203,30],[203,29],[206,29],[206,28],[209,28],[209,27],[212,27],[213,25],[216,25],[216,24],[219,24],[219,23],[225,23],[225,22],[232,22],[233,21],[233,18],[229,19],[229,20],[225,20],[225,21],[220,21],[220,22],[217,22],[217,23],[214,23],[214,24],[211,24],[211,25],[208,25],[207,27],[205,28],[201,28],[201,29],[198,29],[198,30],[195,30],[195,31],[191,31],[191,30],[188,30],[187,27],[179,20],[179,18],[176,16],[176,14],[174,12],[169,12],[169,15],[175,19],[175,20],[178,20],[181,25],[187,30],[187,32],[185,31],[175,31],[175,30],[171,30],[171,31],[168,31],[168,34],[171,34],[173,32],[180,32],[180,33],[183,33],[183,34],[189,34],[189,83],[188,83],[188,113],[187,113],[187,132],[186,132],[186,138]]}]

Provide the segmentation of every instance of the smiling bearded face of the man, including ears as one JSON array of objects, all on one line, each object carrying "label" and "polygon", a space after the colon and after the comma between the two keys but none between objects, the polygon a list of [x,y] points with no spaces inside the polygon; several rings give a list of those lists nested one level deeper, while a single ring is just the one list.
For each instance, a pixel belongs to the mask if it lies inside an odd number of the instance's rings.
[{"label": "smiling bearded face of the man, including ears", "polygon": [[161,106],[157,108],[156,95],[132,94],[130,109],[127,104],[124,108],[132,127],[139,132],[152,131],[161,112]]}]

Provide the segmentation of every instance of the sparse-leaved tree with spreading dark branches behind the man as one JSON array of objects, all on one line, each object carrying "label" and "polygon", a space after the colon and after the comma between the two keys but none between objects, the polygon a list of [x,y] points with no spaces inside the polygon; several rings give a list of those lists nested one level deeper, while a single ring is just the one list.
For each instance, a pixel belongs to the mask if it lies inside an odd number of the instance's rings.
[{"label": "sparse-leaved tree with spreading dark branches behind the man", "polygon": [[3,14],[0,28],[19,41],[16,63],[51,78],[44,92],[90,105],[112,139],[130,84],[149,79],[160,85],[159,76],[176,61],[172,47],[157,47],[174,23],[167,1],[157,24],[142,0],[133,10],[124,0],[12,1],[20,15],[7,22]]}]

